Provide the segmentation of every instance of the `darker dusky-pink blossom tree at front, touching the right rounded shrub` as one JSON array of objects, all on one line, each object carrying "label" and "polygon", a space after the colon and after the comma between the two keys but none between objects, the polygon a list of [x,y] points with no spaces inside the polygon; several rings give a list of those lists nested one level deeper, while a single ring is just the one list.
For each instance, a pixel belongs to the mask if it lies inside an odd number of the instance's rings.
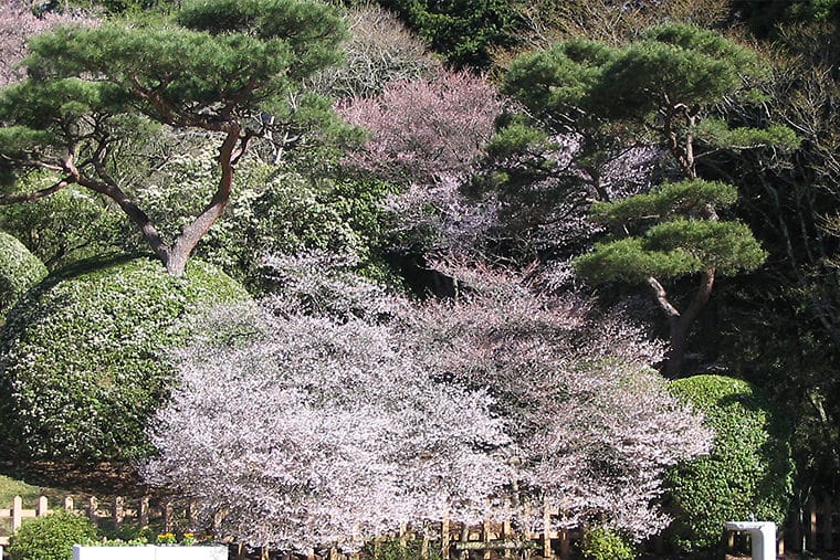
[{"label": "darker dusky-pink blossom tree at front, touching the right rounded shrub", "polygon": [[[407,342],[428,368],[490,388],[515,442],[514,498],[547,501],[565,526],[595,522],[637,540],[662,530],[664,469],[707,452],[713,437],[650,368],[662,345],[619,313],[536,294],[516,276],[448,272],[470,289],[419,307]],[[542,522],[542,511],[519,515]]]}]

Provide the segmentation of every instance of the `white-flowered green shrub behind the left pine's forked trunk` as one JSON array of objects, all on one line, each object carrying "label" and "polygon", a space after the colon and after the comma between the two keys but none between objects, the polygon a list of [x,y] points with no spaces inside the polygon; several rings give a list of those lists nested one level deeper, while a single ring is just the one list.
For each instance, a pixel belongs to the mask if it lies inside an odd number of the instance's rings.
[{"label": "white-flowered green shrub behind the left pine's forked trunk", "polygon": [[[214,188],[209,146],[177,155],[138,192],[138,201],[165,234],[200,209]],[[328,251],[354,255],[363,267],[376,258],[385,239],[380,204],[388,183],[358,178],[304,176],[259,158],[239,165],[238,188],[224,214],[202,239],[196,254],[223,268],[252,292],[264,284],[267,255]]]}]

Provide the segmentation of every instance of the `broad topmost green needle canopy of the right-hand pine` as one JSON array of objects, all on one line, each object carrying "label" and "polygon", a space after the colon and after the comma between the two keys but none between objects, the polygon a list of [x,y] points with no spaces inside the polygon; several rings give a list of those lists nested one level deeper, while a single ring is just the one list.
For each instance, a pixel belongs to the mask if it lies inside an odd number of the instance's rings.
[{"label": "broad topmost green needle canopy of the right-hand pine", "polygon": [[[503,88],[540,118],[639,118],[663,104],[704,105],[757,77],[756,54],[693,25],[650,29],[627,46],[571,40],[517,57]],[[573,109],[584,110],[576,115]]]}]

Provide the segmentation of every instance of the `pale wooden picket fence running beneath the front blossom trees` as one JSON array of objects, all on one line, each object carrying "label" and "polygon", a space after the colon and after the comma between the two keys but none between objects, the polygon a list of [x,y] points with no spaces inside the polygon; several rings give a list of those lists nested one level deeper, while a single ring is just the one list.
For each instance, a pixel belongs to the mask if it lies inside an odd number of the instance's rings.
[{"label": "pale wooden picket fence running beneath the front blossom trees", "polygon": [[[66,497],[60,508],[83,514],[95,524],[108,529],[119,529],[126,524],[133,528],[154,528],[159,532],[183,531],[193,527],[196,510],[195,505],[183,500],[166,500],[143,497],[139,499],[125,499],[114,497],[98,499],[95,497],[85,500],[74,500]],[[9,509],[0,509],[0,529],[7,533],[13,532],[21,526],[24,519],[49,515],[48,498],[41,496],[32,509],[23,507],[22,499],[15,497]],[[418,530],[403,526],[392,535],[381,536],[372,541],[374,548],[382,546],[386,540],[398,540],[402,545],[414,541],[423,558],[440,557],[443,559],[458,558],[469,559],[528,559],[532,557],[558,558],[569,560],[571,541],[578,538],[576,531],[556,529],[554,518],[559,511],[543,508],[543,527],[538,531],[515,530],[511,521],[493,522],[485,520],[482,524],[470,526],[444,518],[437,522],[429,522]],[[8,545],[8,537],[0,532],[0,546]],[[234,558],[248,558],[250,551],[244,547],[231,545]],[[258,558],[267,560],[269,550],[256,551]],[[337,560],[340,554],[337,550],[311,549],[306,557],[308,560],[316,558],[329,558]]]}]

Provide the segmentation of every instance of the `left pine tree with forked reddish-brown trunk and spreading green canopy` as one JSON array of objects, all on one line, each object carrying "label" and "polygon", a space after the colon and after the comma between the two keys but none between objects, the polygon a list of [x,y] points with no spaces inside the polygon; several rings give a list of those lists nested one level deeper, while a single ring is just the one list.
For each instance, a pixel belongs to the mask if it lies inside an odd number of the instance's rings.
[{"label": "left pine tree with forked reddish-brown trunk and spreading green canopy", "polygon": [[[64,25],[33,38],[29,77],[0,93],[0,161],[18,173],[50,170],[54,182],[0,202],[34,200],[73,183],[91,189],[113,200],[180,275],[227,205],[234,163],[249,141],[277,129],[285,136],[274,137],[305,144],[312,123],[333,118],[324,101],[300,88],[338,61],[343,38],[343,20],[329,7],[297,0],[191,2],[170,20]],[[115,169],[120,145],[160,125],[206,131],[219,148],[212,199],[171,241]]]}]

